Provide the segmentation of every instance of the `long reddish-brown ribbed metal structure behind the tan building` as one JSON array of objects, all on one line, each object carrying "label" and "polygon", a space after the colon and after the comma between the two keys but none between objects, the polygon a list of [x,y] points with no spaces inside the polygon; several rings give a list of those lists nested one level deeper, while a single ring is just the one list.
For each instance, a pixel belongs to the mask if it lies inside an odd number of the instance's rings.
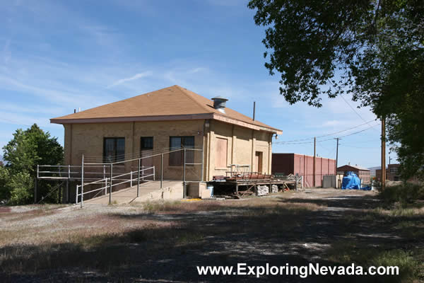
[{"label": "long reddish-brown ribbed metal structure behind the tan building", "polygon": [[299,174],[303,176],[304,187],[321,187],[323,175],[336,175],[336,160],[330,158],[315,158],[304,154],[272,154],[271,172]]}]

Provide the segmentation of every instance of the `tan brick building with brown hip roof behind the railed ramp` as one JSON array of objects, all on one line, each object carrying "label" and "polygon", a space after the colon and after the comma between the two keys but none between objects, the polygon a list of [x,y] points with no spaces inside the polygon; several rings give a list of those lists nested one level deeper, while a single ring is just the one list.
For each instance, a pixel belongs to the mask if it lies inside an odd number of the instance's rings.
[{"label": "tan brick building with brown hip roof behind the railed ramp", "polygon": [[[203,149],[187,154],[187,179],[212,180],[225,175],[230,164],[249,165],[250,170],[271,174],[271,142],[281,130],[225,107],[225,99],[214,101],[180,86],[171,86],[134,98],[76,112],[51,120],[64,125],[66,164],[116,162],[150,156],[143,165],[155,166],[156,175],[179,179],[179,153],[160,153],[179,147]],[[202,156],[203,153],[203,156]],[[162,163],[161,163],[162,162]],[[130,170],[134,162],[122,163]],[[203,174],[201,168],[203,167]]]}]

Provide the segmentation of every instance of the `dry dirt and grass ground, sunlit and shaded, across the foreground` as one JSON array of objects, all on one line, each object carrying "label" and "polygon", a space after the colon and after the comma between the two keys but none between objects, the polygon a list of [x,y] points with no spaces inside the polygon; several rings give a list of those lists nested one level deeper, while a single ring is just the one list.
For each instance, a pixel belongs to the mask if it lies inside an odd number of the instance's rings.
[{"label": "dry dirt and grass ground, sunlit and shaded, across the foreground", "polygon": [[[424,208],[311,189],[243,200],[0,207],[0,282],[420,282]],[[398,277],[200,276],[196,266],[382,265]],[[418,270],[418,272],[417,272]]]}]

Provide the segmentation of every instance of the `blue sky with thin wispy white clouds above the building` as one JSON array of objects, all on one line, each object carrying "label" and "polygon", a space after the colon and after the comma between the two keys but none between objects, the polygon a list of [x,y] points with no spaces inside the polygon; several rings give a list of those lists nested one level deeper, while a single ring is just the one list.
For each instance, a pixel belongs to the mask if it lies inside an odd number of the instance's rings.
[{"label": "blue sky with thin wispy white clouds above the building", "polygon": [[[286,103],[278,76],[269,76],[264,67],[264,28],[254,25],[254,11],[246,4],[2,1],[0,146],[17,128],[33,123],[63,144],[63,127],[49,124],[49,118],[175,84],[208,98],[225,96],[228,107],[245,115],[252,115],[256,100],[257,120],[283,129],[274,152],[312,155],[312,139],[281,141],[322,136],[375,119],[369,109],[356,109],[349,96],[347,102],[323,98],[319,109]],[[379,165],[378,122],[338,136],[363,129],[340,141],[339,165]],[[318,139],[330,139],[317,143],[319,156],[335,158],[333,137],[337,135]]]}]

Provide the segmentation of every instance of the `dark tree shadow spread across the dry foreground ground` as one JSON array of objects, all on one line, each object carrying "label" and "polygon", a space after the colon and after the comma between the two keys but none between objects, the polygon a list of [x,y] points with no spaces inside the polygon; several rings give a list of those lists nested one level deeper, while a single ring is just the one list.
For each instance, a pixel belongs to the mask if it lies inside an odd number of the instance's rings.
[{"label": "dark tree shadow spread across the dry foreground ground", "polygon": [[[322,209],[287,204],[318,204]],[[81,238],[74,243],[0,248],[2,282],[397,282],[400,277],[199,276],[196,266],[338,265],[326,253],[334,243],[423,247],[404,238],[395,221],[360,209],[376,207],[373,197],[278,198],[275,204],[206,212],[111,214],[111,218],[173,221],[125,233]],[[189,204],[188,204],[189,205]],[[364,219],[367,216],[367,219]],[[423,219],[419,219],[422,223]],[[354,251],[353,251],[354,252]],[[364,262],[365,263],[365,262]],[[360,264],[360,262],[358,262]],[[365,265],[365,264],[364,264]]]}]

